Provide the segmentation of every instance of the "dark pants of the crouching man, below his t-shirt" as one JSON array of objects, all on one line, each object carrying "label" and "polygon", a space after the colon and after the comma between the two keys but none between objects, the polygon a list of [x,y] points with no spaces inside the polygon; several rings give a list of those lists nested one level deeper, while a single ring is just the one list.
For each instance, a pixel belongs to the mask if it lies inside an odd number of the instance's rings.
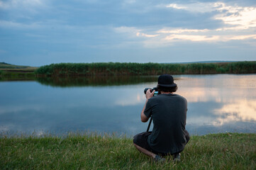
[{"label": "dark pants of the crouching man, below his t-shirt", "polygon": [[[142,147],[142,148],[144,148],[144,149],[146,149],[146,150],[148,150],[148,151],[154,153],[154,154],[160,154],[160,155],[162,155],[162,156],[168,155],[169,153],[160,153],[160,152],[154,151],[154,150],[150,147],[150,145],[148,145],[148,136],[149,136],[151,133],[152,133],[152,131],[150,131],[150,132],[141,132],[141,133],[135,135],[135,136],[133,137],[133,143],[134,143],[135,145],[138,145],[138,146],[140,146],[140,147]],[[186,137],[187,142],[189,142],[190,136],[189,136],[189,132],[188,132],[187,130],[185,130],[185,137]],[[182,151],[180,151],[180,152],[182,152]],[[174,153],[174,154],[179,154],[180,152],[177,152],[177,153]]]}]

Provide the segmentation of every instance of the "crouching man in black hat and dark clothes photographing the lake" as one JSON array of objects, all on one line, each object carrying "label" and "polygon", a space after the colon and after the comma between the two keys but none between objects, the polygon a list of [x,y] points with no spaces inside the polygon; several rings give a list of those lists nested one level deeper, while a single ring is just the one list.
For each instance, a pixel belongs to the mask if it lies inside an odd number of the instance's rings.
[{"label": "crouching man in black hat and dark clothes photographing the lake", "polygon": [[169,74],[158,77],[157,96],[154,91],[145,94],[146,102],[140,118],[143,123],[150,116],[153,120],[152,132],[143,132],[135,135],[133,144],[144,154],[152,157],[157,162],[165,162],[168,154],[173,155],[174,161],[179,161],[180,152],[189,142],[189,132],[185,129],[187,120],[186,98],[174,94],[177,84]]}]

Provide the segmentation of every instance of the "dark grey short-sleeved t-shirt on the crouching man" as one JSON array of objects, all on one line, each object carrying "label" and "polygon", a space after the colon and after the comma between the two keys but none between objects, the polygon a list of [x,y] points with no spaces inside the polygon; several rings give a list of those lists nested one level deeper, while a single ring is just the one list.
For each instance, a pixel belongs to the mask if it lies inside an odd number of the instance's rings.
[{"label": "dark grey short-sleeved t-shirt on the crouching man", "polygon": [[174,154],[182,152],[187,140],[185,125],[187,100],[177,94],[153,96],[146,104],[144,114],[152,115],[153,130],[148,144],[156,152]]}]

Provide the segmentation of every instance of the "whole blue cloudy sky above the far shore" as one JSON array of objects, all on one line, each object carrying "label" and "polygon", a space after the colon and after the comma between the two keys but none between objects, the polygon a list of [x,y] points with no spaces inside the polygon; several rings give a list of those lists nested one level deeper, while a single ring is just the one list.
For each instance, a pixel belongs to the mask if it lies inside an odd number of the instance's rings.
[{"label": "whole blue cloudy sky above the far shore", "polygon": [[0,0],[0,62],[255,60],[255,0]]}]

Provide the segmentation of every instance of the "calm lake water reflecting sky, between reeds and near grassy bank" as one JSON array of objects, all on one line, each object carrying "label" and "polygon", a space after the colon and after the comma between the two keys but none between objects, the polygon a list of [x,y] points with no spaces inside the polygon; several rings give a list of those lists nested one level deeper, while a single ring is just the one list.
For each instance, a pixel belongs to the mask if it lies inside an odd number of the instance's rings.
[{"label": "calm lake water reflecting sky, between reeds and near grassy bank", "polygon": [[[256,74],[178,75],[177,94],[187,98],[191,135],[256,132]],[[0,132],[56,135],[116,132],[133,136],[140,122],[143,90],[157,77],[89,77],[0,81]]]}]

